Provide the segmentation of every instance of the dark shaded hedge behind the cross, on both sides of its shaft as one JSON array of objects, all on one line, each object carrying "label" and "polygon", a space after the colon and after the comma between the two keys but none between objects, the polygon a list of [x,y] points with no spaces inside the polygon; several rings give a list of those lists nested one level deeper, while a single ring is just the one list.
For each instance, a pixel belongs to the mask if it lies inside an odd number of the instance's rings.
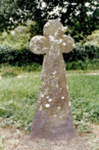
[{"label": "dark shaded hedge behind the cross, on both sides of its shaft", "polygon": [[[76,45],[76,48],[73,51],[67,54],[63,54],[63,57],[66,62],[67,70],[99,69],[98,46]],[[3,63],[8,63],[10,65],[16,66],[35,64],[38,67],[38,65],[42,65],[43,63],[43,55],[35,55],[29,50],[29,48],[26,47],[20,49],[12,49],[8,46],[0,46],[0,64]]]}]

